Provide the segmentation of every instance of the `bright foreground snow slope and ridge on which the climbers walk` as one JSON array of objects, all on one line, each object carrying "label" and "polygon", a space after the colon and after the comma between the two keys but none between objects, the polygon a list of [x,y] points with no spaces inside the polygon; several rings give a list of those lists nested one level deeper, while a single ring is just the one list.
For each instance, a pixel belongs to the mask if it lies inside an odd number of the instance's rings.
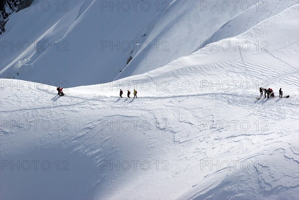
[{"label": "bright foreground snow slope and ridge on which the climbers walk", "polygon": [[[0,198],[297,199],[298,8],[64,97],[1,79]],[[259,99],[259,87],[276,97]]]}]

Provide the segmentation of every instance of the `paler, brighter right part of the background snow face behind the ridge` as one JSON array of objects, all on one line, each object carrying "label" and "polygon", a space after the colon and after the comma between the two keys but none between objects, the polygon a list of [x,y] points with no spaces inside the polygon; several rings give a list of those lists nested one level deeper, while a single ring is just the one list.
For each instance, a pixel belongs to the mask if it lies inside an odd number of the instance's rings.
[{"label": "paler, brighter right part of the background snow face behind the ridge", "polygon": [[[175,1],[147,39],[149,50],[140,50],[117,77],[143,74],[181,56],[244,33],[298,1]],[[153,59],[154,58],[154,59]]]}]

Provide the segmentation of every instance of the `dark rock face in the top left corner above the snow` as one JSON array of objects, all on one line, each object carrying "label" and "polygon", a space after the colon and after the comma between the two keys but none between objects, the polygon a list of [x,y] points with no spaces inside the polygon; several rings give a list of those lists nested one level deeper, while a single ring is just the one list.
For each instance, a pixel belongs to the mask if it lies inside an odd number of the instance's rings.
[{"label": "dark rock face in the top left corner above the snow", "polygon": [[33,0],[0,0],[0,35],[5,31],[8,16],[21,9],[29,7]]}]

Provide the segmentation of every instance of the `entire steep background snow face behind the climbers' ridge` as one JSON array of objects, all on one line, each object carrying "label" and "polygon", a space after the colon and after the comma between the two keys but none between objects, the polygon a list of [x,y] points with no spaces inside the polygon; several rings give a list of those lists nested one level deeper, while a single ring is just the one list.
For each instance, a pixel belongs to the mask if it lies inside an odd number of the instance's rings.
[{"label": "entire steep background snow face behind the climbers' ridge", "polygon": [[143,74],[297,3],[36,1],[6,24],[0,77],[75,87]]}]

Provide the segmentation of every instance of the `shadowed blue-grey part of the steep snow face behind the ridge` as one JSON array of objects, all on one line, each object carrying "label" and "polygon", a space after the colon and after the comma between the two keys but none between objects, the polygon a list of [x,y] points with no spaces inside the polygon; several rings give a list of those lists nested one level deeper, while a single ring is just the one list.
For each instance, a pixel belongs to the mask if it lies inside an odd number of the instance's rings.
[{"label": "shadowed blue-grey part of the steep snow face behind the ridge", "polygon": [[69,86],[112,81],[162,14],[158,1],[128,2],[33,2],[6,24],[1,77]]}]

